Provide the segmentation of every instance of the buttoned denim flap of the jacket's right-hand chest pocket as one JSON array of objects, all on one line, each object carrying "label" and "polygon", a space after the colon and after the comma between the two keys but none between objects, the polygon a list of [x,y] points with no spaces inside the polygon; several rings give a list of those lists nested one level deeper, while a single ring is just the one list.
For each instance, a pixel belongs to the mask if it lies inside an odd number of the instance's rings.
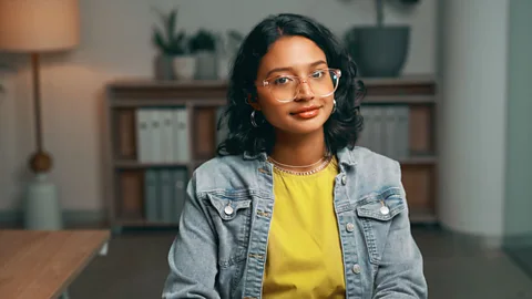
[{"label": "buttoned denim flap of the jacket's right-hand chest pocket", "polygon": [[359,217],[386,221],[392,219],[406,208],[407,206],[400,189],[390,188],[380,194],[369,195],[361,199],[357,206],[357,215]]}]

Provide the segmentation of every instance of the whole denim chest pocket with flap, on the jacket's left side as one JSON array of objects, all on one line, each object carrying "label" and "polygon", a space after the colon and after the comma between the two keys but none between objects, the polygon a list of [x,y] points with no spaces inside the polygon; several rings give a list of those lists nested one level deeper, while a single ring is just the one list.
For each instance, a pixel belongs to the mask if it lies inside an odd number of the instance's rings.
[{"label": "whole denim chest pocket with flap, on the jacket's left side", "polygon": [[246,259],[252,199],[207,195],[208,210],[218,237],[218,265],[229,267]]}]

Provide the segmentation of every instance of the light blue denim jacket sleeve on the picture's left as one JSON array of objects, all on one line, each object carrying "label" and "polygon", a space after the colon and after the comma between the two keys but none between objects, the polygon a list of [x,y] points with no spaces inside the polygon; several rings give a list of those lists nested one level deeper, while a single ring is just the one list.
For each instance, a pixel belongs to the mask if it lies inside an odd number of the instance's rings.
[{"label": "light blue denim jacket sleeve on the picture's left", "polygon": [[195,176],[186,194],[178,233],[168,252],[170,274],[162,298],[219,298],[215,288],[216,235],[208,212],[196,196]]}]

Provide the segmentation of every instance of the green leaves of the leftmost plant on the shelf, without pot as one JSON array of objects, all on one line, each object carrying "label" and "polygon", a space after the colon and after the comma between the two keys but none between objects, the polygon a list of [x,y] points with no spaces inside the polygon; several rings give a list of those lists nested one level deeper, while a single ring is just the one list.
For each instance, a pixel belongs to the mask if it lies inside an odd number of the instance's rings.
[{"label": "green leaves of the leftmost plant on the shelf, without pot", "polygon": [[166,55],[185,54],[187,52],[186,34],[184,31],[176,32],[175,30],[177,9],[171,10],[168,14],[164,14],[161,11],[157,11],[157,13],[161,17],[163,29],[158,27],[153,29],[152,41],[154,45]]}]

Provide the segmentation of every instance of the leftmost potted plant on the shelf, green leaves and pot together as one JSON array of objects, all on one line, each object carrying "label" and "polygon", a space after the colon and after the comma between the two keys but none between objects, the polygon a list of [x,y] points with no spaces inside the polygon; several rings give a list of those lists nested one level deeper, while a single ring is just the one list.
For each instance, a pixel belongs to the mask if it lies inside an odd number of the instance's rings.
[{"label": "leftmost potted plant on the shelf, green leaves and pot together", "polygon": [[165,14],[157,11],[162,27],[153,29],[152,42],[158,49],[155,56],[155,79],[157,80],[192,80],[196,69],[196,59],[187,48],[186,33],[175,30],[177,9]]}]

